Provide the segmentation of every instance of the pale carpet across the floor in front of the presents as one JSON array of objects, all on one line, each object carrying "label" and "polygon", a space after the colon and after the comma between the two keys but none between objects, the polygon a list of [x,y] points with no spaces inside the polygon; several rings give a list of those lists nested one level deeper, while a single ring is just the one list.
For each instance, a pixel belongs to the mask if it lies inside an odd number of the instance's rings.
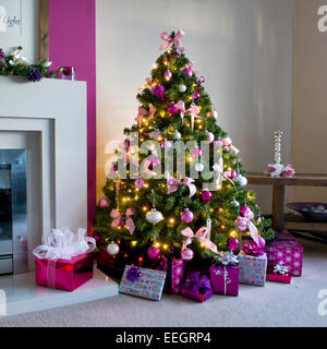
[{"label": "pale carpet across the floor in front of the presents", "polygon": [[167,294],[160,302],[120,294],[2,317],[0,326],[327,326],[327,315],[318,313],[318,292],[327,289],[327,245],[299,241],[304,246],[304,273],[291,285],[240,285],[238,298],[214,296],[205,303]]}]

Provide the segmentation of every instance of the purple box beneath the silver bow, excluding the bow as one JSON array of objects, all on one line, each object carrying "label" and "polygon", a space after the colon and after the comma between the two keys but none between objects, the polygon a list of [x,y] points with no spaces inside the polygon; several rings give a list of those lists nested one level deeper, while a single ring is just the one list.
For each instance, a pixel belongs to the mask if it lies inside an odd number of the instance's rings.
[{"label": "purple box beneath the silver bow, excluding the bow", "polygon": [[210,281],[216,294],[239,296],[240,269],[237,265],[217,265],[210,267]]}]

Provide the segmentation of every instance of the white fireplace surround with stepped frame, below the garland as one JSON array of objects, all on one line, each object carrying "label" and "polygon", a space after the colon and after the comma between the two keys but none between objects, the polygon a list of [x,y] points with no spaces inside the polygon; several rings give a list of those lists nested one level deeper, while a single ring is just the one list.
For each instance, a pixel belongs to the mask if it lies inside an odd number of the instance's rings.
[{"label": "white fireplace surround with stepped frame, below the garland", "polygon": [[87,228],[86,141],[85,82],[0,76],[0,148],[28,144],[29,270],[45,231]]}]

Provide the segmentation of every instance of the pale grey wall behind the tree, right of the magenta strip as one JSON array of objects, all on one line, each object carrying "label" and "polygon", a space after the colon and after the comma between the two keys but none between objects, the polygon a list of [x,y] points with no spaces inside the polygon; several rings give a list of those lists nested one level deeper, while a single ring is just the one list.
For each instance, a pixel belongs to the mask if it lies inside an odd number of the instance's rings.
[{"label": "pale grey wall behind the tree, right of the magenta strip", "polygon": [[[159,56],[162,31],[182,28],[186,56],[247,170],[272,159],[272,132],[291,144],[292,0],[97,0],[97,185],[108,141],[136,116],[137,87]],[[270,208],[268,190],[258,190]]]}]

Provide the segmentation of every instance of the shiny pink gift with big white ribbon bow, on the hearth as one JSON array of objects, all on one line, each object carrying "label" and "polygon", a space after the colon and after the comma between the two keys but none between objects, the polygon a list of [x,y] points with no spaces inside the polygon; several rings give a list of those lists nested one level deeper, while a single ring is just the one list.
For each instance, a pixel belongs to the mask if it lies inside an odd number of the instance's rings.
[{"label": "shiny pink gift with big white ribbon bow, on the hearth", "polygon": [[36,284],[73,291],[93,277],[93,253],[96,241],[80,228],[73,233],[52,229],[34,249]]}]

